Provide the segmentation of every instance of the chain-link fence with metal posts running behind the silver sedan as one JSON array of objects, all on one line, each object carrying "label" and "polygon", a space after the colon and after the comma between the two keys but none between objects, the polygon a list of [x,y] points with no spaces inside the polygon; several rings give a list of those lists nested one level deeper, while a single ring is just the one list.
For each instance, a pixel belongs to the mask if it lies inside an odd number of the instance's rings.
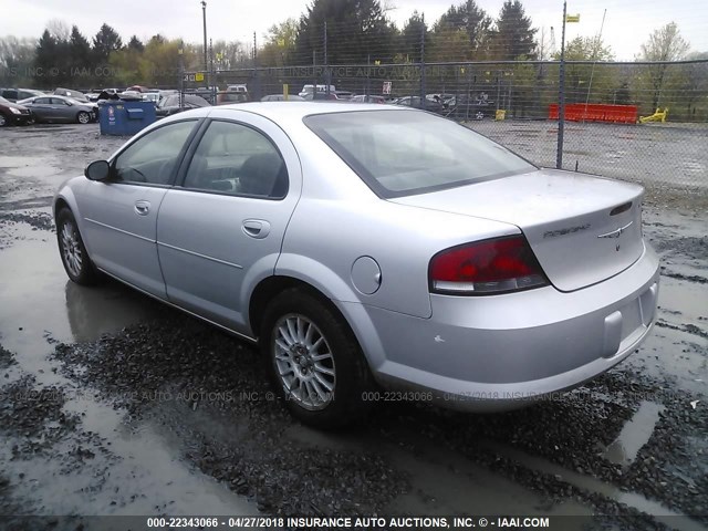
[{"label": "chain-link fence with metal posts running behind the silver sedan", "polygon": [[[383,96],[464,122],[542,166],[646,185],[708,187],[706,60],[566,61],[562,87],[559,61],[381,64],[367,56],[366,63],[317,64],[316,60],[314,53],[310,65],[256,63],[249,69],[215,70],[207,79],[218,90],[247,85],[250,100],[283,91],[298,94],[305,85],[319,85],[320,94],[308,88],[315,98]],[[194,79],[185,76],[186,91],[200,84]]]}]

